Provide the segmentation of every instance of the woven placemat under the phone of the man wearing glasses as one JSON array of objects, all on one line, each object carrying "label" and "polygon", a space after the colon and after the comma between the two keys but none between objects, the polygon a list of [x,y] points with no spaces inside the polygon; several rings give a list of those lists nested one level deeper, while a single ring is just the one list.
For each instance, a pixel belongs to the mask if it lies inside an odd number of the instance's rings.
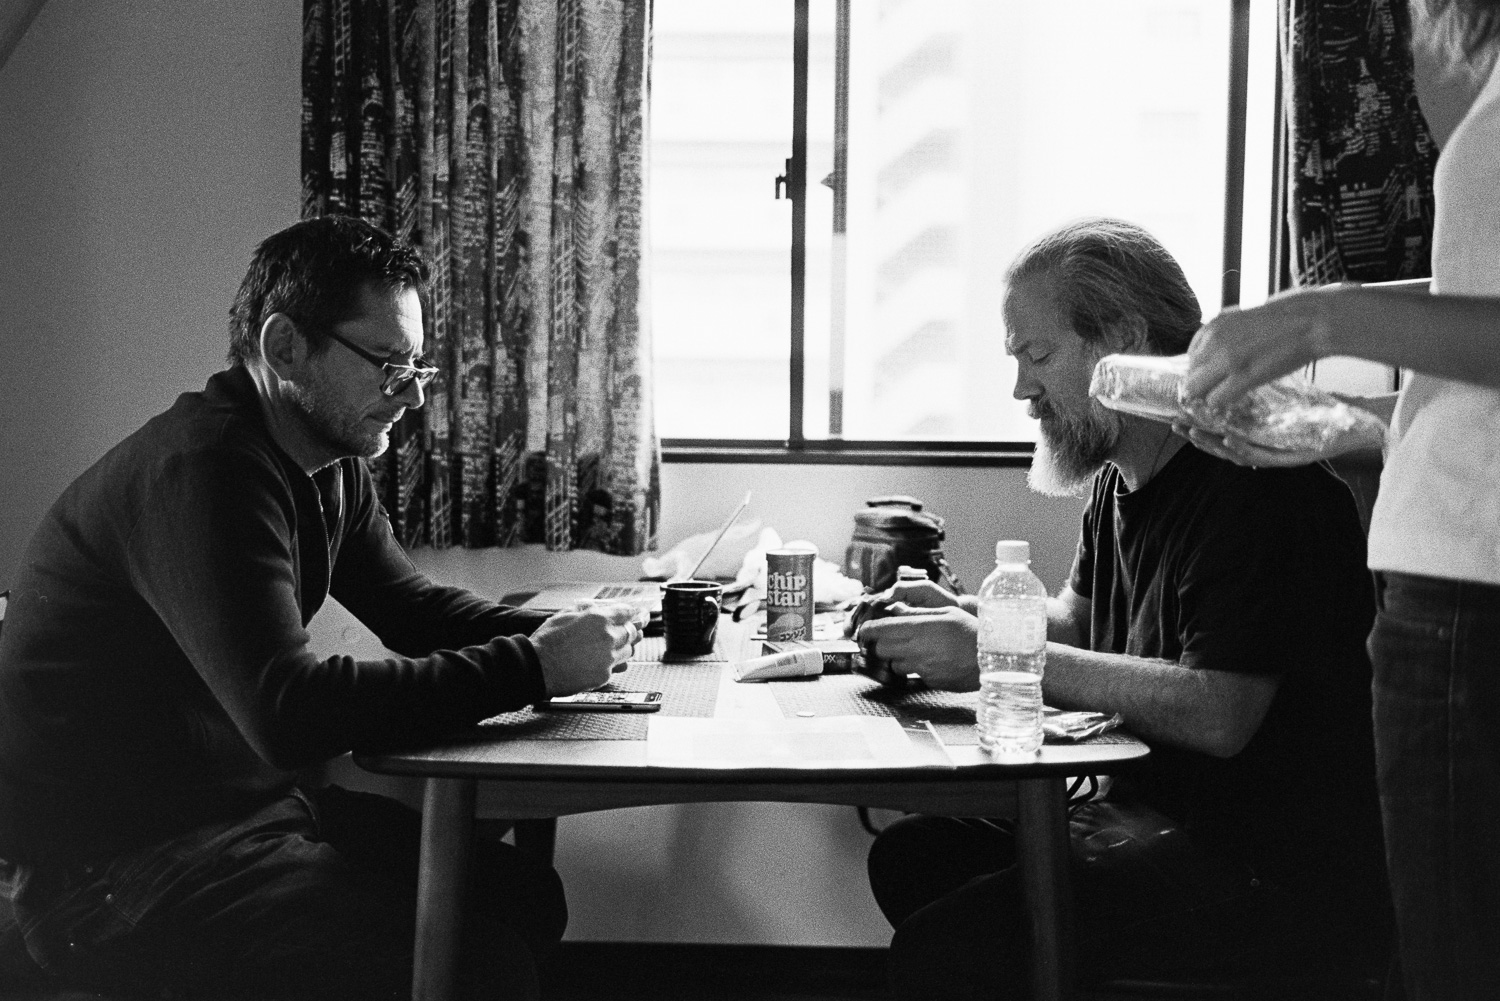
[{"label": "woven placemat under the phone of the man wearing glasses", "polygon": [[[663,716],[714,714],[720,668],[692,663],[632,662],[603,692],[662,692]],[[590,713],[524,708],[490,716],[486,731],[528,740],[645,740],[651,713]],[[498,735],[498,734],[496,734]]]}]

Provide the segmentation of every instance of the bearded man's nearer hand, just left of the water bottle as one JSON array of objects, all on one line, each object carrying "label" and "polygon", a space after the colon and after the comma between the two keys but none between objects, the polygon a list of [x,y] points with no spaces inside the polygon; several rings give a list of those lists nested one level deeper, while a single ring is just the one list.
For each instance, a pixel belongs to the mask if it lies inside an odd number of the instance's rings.
[{"label": "bearded man's nearer hand, just left of the water bottle", "polygon": [[856,636],[866,656],[880,657],[892,672],[920,674],[928,687],[980,687],[978,618],[956,606],[894,608],[903,611],[860,626]]}]

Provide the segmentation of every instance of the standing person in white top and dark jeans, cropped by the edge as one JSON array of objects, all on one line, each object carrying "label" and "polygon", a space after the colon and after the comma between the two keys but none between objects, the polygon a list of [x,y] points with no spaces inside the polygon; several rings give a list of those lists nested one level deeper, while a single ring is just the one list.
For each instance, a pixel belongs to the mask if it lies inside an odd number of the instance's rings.
[{"label": "standing person in white top and dark jeans, cropped by the edge", "polygon": [[[1413,369],[1370,528],[1380,801],[1407,995],[1478,1001],[1500,996],[1500,2],[1413,6],[1442,146],[1432,294],[1340,285],[1226,312],[1194,338],[1185,392],[1224,407],[1334,354]],[[1460,113],[1440,104],[1455,95]]]}]

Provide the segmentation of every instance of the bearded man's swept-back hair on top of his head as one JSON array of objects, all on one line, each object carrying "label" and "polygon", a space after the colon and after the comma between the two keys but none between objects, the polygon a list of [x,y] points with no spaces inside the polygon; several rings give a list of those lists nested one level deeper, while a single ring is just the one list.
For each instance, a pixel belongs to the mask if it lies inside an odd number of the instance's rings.
[{"label": "bearded man's swept-back hair on top of his head", "polygon": [[1080,219],[1034,242],[1005,284],[1046,275],[1058,309],[1084,341],[1110,333],[1155,354],[1180,354],[1203,326],[1198,297],[1182,266],[1156,237],[1119,219]]}]

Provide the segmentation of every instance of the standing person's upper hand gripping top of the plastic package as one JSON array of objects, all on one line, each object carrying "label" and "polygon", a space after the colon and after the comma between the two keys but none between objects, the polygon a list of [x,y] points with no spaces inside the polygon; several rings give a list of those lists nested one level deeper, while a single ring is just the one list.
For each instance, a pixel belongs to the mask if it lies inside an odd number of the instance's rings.
[{"label": "standing person's upper hand gripping top of the plastic package", "polygon": [[1204,323],[1188,347],[1184,396],[1224,411],[1257,386],[1335,354],[1336,297],[1344,288],[1350,287],[1282,293]]}]

